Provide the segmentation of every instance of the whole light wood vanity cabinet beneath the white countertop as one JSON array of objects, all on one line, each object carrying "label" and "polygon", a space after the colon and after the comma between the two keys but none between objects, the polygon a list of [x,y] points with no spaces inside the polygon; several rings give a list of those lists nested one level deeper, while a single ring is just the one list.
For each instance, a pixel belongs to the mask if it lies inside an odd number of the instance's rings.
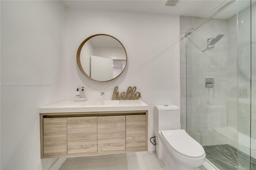
[{"label": "whole light wood vanity cabinet beneath the white countertop", "polygon": [[148,111],[40,113],[41,158],[148,150]]}]

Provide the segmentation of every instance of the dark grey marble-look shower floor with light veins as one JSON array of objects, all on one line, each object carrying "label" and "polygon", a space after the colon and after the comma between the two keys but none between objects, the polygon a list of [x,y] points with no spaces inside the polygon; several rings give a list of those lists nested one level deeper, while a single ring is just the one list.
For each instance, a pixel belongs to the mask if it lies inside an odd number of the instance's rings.
[{"label": "dark grey marble-look shower floor with light veins", "polygon": [[[206,158],[220,170],[256,170],[256,160],[229,144],[203,146]],[[238,162],[239,160],[239,162]]]}]

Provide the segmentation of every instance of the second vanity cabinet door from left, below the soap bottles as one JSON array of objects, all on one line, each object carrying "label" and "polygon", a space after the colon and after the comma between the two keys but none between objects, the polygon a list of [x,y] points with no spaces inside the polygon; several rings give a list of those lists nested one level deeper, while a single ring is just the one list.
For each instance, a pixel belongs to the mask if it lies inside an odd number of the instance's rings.
[{"label": "second vanity cabinet door from left, below the soap bottles", "polygon": [[68,154],[97,152],[97,117],[68,117]]}]

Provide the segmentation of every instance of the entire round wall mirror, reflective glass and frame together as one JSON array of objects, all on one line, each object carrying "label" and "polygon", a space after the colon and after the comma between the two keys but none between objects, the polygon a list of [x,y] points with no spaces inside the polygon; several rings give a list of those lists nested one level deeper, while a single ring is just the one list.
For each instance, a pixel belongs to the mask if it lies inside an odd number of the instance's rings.
[{"label": "entire round wall mirror, reflective glass and frame together", "polygon": [[86,77],[95,81],[110,81],[123,72],[127,54],[118,39],[107,34],[96,34],[81,43],[76,61]]}]

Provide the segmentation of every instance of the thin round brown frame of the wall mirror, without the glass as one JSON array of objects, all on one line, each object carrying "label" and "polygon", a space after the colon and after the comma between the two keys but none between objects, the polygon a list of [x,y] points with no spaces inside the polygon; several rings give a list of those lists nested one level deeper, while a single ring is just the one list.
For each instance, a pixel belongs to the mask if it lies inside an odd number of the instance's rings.
[{"label": "thin round brown frame of the wall mirror, without the glass", "polygon": [[[86,74],[86,72],[84,71],[84,69],[83,69],[83,67],[82,67],[82,65],[81,65],[80,53],[81,53],[81,50],[82,50],[82,47],[84,46],[84,44],[85,44],[88,40],[90,40],[91,38],[93,38],[93,37],[95,37],[95,36],[109,36],[109,37],[111,37],[111,38],[114,38],[114,39],[115,39],[116,41],[118,41],[118,42],[122,45],[122,47],[124,48],[124,45],[123,45],[117,38],[115,38],[115,37],[113,37],[113,36],[110,36],[110,35],[108,35],[108,34],[95,34],[95,35],[93,35],[93,36],[90,36],[90,37],[86,38],[86,39],[80,44],[80,46],[78,47],[78,50],[77,50],[77,53],[76,53],[76,62],[77,62],[77,65],[78,65],[80,71],[82,71],[82,73],[83,73],[86,77],[88,77],[89,79],[92,79],[92,78],[91,78],[88,74]],[[124,52],[125,52],[125,55],[126,55],[126,62],[125,62],[125,66],[124,66],[124,69],[125,69],[126,64],[127,64],[127,53],[126,53],[125,48],[124,48]],[[113,79],[106,80],[106,81],[111,81],[111,80],[116,79],[117,77],[119,77],[119,76],[122,74],[122,72],[124,71],[124,69],[121,71],[121,73],[120,73],[118,76],[114,77]],[[92,80],[98,81],[98,80],[95,80],[95,79],[92,79]],[[99,81],[99,82],[106,82],[106,81]]]}]

